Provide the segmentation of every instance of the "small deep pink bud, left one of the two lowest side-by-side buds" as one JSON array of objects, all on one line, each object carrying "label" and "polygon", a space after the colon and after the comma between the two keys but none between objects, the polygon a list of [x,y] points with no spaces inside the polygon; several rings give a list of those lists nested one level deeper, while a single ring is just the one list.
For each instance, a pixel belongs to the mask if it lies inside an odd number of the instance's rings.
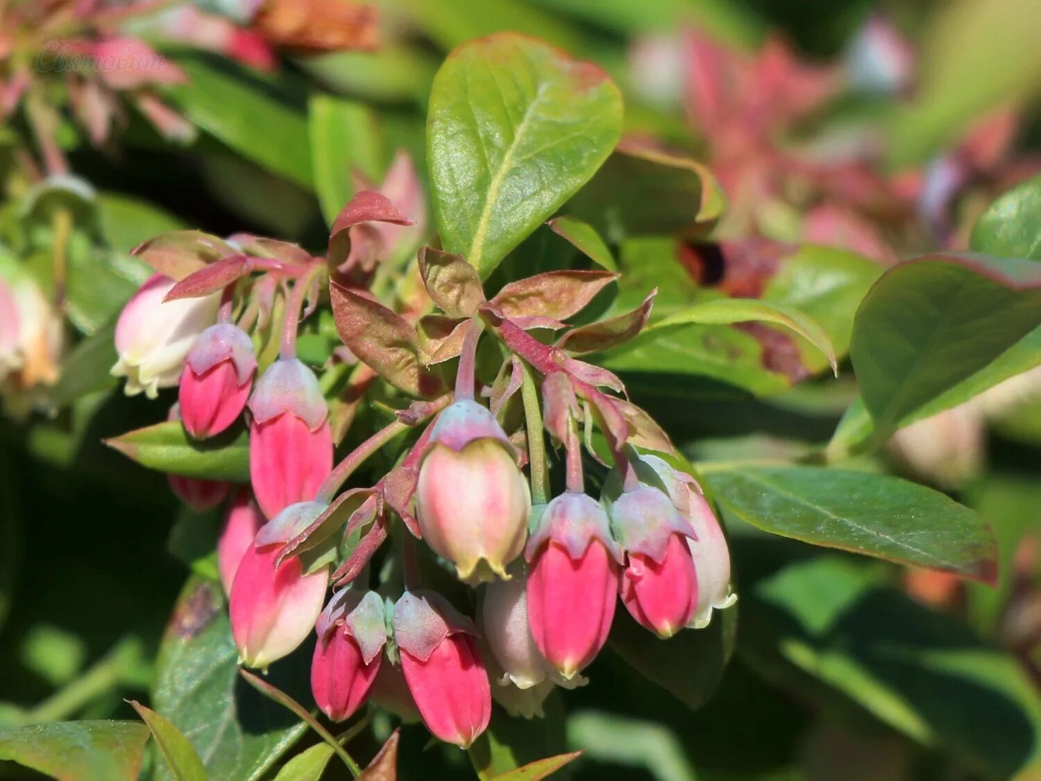
[{"label": "small deep pink bud, left one of the two lowest side-by-side buds", "polygon": [[311,694],[334,722],[349,719],[369,697],[383,658],[383,600],[375,591],[338,591],[314,626]]}]

